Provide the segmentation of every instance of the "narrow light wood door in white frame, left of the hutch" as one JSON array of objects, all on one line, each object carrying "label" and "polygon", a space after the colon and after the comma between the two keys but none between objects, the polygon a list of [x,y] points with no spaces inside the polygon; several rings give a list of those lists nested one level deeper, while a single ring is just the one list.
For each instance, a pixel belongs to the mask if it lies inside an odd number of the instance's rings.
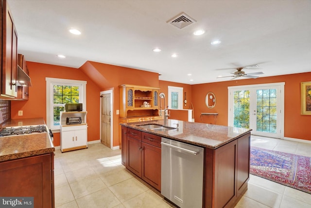
[{"label": "narrow light wood door in white frame, left of the hutch", "polygon": [[111,94],[101,95],[102,99],[102,122],[101,122],[101,142],[111,148]]}]

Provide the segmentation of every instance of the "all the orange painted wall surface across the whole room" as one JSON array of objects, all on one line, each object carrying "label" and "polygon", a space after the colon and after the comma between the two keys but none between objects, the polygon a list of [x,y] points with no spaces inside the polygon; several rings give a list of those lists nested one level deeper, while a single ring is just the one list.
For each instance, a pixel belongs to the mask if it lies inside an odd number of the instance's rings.
[{"label": "all the orange painted wall surface across the whole room", "polygon": [[[290,138],[311,140],[308,128],[311,123],[310,115],[300,114],[300,82],[311,81],[311,72],[285,76],[262,77],[257,79],[239,79],[224,82],[188,85],[169,81],[158,80],[158,74],[145,72],[126,67],[102,64],[87,61],[79,69],[61,67],[49,64],[27,62],[32,87],[29,89],[28,101],[12,101],[12,118],[43,117],[46,120],[46,81],[45,77],[86,80],[86,111],[88,123],[88,141],[100,139],[100,92],[113,90],[113,146],[119,145],[119,115],[120,109],[119,85],[134,84],[142,86],[159,87],[160,92],[168,94],[168,86],[183,87],[187,94],[187,105],[184,109],[194,106],[195,122],[211,123],[206,117],[201,118],[201,113],[219,113],[217,124],[227,125],[228,119],[228,86],[262,84],[272,82],[285,82],[285,131],[284,136]],[[216,107],[208,109],[205,105],[205,96],[213,92],[216,96]],[[184,95],[183,95],[184,99]],[[23,116],[17,112],[23,111]],[[54,134],[54,145],[59,146],[59,133]]]}]

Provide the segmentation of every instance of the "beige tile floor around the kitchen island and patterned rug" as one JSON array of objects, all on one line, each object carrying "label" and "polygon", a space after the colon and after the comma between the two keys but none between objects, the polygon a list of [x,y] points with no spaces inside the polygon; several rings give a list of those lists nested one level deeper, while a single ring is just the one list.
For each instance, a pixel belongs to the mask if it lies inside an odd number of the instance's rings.
[{"label": "beige tile floor around the kitchen island and patterned rug", "polygon": [[[311,157],[311,144],[259,136],[251,145]],[[101,143],[55,151],[56,208],[170,208],[161,194],[121,165],[121,151]],[[311,194],[250,175],[235,208],[310,208]]]}]

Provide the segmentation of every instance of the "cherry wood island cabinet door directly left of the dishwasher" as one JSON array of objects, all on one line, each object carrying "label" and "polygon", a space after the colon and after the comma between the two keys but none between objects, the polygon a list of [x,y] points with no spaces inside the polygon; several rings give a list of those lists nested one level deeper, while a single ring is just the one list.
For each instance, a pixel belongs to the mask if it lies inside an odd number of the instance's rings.
[{"label": "cherry wood island cabinet door directly left of the dishwasher", "polygon": [[143,148],[141,178],[161,191],[161,149],[144,142],[141,146]]}]

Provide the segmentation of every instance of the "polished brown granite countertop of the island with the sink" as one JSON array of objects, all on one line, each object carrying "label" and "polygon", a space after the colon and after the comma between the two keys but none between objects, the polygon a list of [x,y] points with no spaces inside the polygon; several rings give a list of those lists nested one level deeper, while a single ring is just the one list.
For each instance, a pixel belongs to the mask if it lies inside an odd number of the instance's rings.
[{"label": "polished brown granite countertop of the island with the sink", "polygon": [[[251,129],[243,129],[236,127],[227,127],[220,125],[194,123],[180,120],[168,120],[168,127],[176,128],[178,123],[178,129],[173,130],[151,130],[145,128],[144,124],[158,124],[163,125],[164,120],[142,121],[135,123],[121,123],[122,126],[130,127],[140,130],[142,132],[153,133],[162,137],[174,139],[189,144],[195,144],[202,147],[211,149],[219,148],[226,143],[251,132]],[[142,125],[142,126],[138,126]]]}]

